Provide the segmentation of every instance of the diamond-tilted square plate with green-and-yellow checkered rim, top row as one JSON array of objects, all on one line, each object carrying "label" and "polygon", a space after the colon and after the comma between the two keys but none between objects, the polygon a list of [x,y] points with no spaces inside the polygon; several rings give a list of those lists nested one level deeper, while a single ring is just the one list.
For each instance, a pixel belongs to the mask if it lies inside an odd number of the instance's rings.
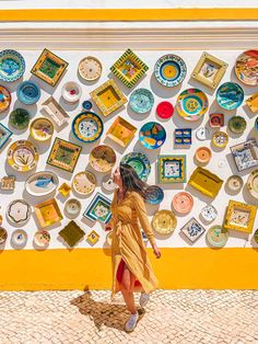
[{"label": "diamond-tilted square plate with green-and-yellow checkered rim, top row", "polygon": [[127,49],[110,67],[114,74],[131,88],[148,71],[149,67],[131,50]]}]

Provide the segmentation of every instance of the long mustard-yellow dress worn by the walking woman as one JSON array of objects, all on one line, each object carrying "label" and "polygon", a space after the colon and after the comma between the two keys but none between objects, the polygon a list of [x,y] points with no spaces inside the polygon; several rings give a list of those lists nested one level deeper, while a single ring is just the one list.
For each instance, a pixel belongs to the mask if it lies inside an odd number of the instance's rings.
[{"label": "long mustard-yellow dress worn by the walking woman", "polygon": [[145,293],[153,291],[157,285],[146,249],[142,239],[140,225],[145,232],[151,244],[155,243],[151,225],[146,216],[145,204],[142,196],[132,191],[128,191],[122,200],[118,203],[118,190],[110,205],[113,227],[112,240],[112,267],[113,267],[113,299],[115,294],[120,290],[120,284],[117,279],[117,270],[121,259],[128,268],[133,273],[137,280],[140,282]]}]

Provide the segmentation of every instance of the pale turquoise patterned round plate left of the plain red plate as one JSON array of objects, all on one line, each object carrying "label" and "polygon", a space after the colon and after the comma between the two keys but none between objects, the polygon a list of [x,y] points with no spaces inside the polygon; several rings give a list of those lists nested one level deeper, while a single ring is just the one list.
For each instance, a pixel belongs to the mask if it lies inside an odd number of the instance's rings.
[{"label": "pale turquoise patterned round plate left of the plain red plate", "polygon": [[133,110],[138,114],[144,114],[151,111],[154,104],[154,96],[151,91],[146,89],[138,89],[134,90],[130,98],[129,104],[131,110]]}]

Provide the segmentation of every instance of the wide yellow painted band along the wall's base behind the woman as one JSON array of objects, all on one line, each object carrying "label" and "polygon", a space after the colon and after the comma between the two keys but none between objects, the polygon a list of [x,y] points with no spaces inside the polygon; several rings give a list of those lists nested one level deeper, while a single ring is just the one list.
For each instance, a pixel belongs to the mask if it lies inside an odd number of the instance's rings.
[{"label": "wide yellow painted band along the wall's base behind the woman", "polygon": [[[161,249],[157,260],[148,249],[164,289],[257,289],[258,249]],[[1,290],[110,289],[107,249],[4,250]]]}]

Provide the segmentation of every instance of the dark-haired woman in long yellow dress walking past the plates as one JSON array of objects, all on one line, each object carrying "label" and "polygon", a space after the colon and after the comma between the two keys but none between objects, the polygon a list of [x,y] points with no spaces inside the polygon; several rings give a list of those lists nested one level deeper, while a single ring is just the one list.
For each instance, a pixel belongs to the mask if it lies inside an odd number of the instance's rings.
[{"label": "dark-haired woman in long yellow dress walking past the plates", "polygon": [[140,220],[156,257],[161,257],[161,252],[155,243],[144,204],[151,186],[141,181],[129,164],[120,164],[113,174],[113,181],[118,187],[110,206],[112,220],[106,225],[106,230],[113,229],[112,297],[119,290],[121,291],[131,313],[126,323],[126,331],[130,332],[136,328],[139,318],[133,291],[141,291],[140,306],[144,307],[150,298],[150,293],[159,284],[146,254],[138,220]]}]

